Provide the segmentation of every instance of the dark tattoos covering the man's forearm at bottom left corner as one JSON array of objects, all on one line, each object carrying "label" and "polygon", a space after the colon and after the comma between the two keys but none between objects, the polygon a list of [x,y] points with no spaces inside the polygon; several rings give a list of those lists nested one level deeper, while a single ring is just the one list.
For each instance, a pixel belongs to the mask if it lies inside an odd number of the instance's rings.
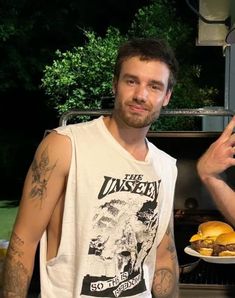
[{"label": "dark tattoos covering the man's forearm at bottom left corner", "polygon": [[3,297],[24,298],[30,284],[30,276],[21,258],[24,256],[24,241],[13,233],[4,264]]}]

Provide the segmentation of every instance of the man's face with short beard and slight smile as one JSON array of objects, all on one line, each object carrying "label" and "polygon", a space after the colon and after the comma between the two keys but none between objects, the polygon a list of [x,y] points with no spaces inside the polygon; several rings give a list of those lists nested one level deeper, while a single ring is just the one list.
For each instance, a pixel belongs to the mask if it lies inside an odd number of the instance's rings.
[{"label": "man's face with short beard and slight smile", "polygon": [[113,86],[116,117],[129,127],[149,126],[169,102],[169,74],[167,65],[160,61],[141,61],[139,57],[124,61]]}]

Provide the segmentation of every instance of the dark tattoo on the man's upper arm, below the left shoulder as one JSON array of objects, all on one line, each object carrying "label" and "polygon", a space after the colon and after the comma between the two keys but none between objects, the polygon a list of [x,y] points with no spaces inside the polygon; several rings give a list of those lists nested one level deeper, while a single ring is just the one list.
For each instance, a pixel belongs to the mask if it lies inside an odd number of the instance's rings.
[{"label": "dark tattoo on the man's upper arm, below the left shoulder", "polygon": [[54,165],[49,165],[48,148],[42,152],[40,160],[34,158],[31,170],[32,170],[32,190],[30,192],[31,198],[38,198],[40,200],[46,197],[47,184],[54,170]]}]

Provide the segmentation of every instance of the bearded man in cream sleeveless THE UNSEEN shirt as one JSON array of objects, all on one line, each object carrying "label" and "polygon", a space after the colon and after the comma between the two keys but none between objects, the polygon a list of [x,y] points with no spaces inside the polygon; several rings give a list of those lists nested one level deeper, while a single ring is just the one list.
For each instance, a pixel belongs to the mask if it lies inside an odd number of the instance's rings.
[{"label": "bearded man in cream sleeveless THE UNSEEN shirt", "polygon": [[164,42],[129,41],[117,56],[112,115],[42,140],[10,240],[4,298],[26,297],[39,241],[42,298],[178,297],[176,161],[146,139],[176,73]]}]

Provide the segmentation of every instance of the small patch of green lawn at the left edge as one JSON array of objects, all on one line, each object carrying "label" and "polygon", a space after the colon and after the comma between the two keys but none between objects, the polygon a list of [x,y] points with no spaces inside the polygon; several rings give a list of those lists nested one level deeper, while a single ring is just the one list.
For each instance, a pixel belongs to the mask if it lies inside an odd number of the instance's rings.
[{"label": "small patch of green lawn at the left edge", "polygon": [[0,239],[9,240],[18,210],[16,201],[0,201]]}]

